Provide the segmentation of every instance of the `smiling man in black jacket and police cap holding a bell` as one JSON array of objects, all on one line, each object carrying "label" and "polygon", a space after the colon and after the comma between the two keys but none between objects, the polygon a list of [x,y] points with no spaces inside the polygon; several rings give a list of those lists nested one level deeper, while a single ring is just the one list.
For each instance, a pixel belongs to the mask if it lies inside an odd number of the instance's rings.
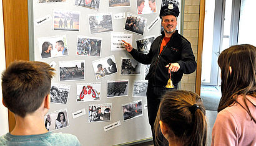
[{"label": "smiling man in black jacket and police cap holding a bell", "polygon": [[[193,73],[197,66],[189,40],[176,30],[179,13],[179,7],[172,2],[161,8],[159,16],[164,31],[154,40],[149,53],[138,52],[132,45],[123,41],[126,50],[135,60],[145,65],[150,64],[145,80],[149,80],[147,109],[153,137],[155,117],[162,95],[166,91],[177,89],[183,74]],[[171,89],[165,87],[170,76],[174,85]]]}]

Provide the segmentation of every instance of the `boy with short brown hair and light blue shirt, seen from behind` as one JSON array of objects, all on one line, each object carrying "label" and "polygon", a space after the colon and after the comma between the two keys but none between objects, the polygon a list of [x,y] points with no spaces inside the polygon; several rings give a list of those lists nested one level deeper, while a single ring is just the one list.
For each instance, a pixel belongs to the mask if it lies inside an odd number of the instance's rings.
[{"label": "boy with short brown hair and light blue shirt, seen from behind", "polygon": [[53,71],[47,63],[19,61],[2,73],[2,103],[14,113],[16,125],[0,137],[0,145],[80,145],[74,135],[46,129]]}]

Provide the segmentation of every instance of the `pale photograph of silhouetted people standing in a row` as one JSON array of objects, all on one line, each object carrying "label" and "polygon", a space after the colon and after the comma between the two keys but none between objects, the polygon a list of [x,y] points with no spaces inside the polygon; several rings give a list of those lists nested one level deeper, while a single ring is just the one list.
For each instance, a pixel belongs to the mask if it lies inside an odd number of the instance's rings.
[{"label": "pale photograph of silhouetted people standing in a row", "polygon": [[80,12],[67,10],[53,10],[53,29],[79,31]]}]

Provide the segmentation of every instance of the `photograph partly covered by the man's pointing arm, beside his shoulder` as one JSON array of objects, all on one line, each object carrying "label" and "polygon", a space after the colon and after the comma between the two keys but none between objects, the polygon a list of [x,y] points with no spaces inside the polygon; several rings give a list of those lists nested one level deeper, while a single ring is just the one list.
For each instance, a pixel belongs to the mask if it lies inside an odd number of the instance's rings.
[{"label": "photograph partly covered by the man's pointing arm, beside his shoulder", "polygon": [[144,39],[136,40],[137,50],[141,53],[147,54],[149,53],[150,46],[154,42],[155,36],[145,37]]}]

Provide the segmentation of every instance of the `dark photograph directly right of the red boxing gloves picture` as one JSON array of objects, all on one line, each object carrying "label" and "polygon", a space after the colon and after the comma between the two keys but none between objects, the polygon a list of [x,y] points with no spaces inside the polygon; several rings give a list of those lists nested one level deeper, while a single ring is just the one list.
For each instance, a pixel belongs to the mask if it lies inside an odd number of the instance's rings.
[{"label": "dark photograph directly right of the red boxing gloves picture", "polygon": [[128,80],[107,81],[107,98],[128,96]]}]

